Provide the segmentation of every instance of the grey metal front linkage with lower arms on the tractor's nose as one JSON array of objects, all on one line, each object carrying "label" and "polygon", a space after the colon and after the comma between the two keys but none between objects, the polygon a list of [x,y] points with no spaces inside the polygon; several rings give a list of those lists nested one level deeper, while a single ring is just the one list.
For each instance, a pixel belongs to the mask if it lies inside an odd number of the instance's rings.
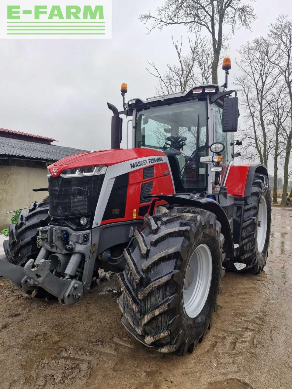
[{"label": "grey metal front linkage with lower arms on the tractor's nose", "polygon": [[69,232],[51,225],[39,228],[37,241],[41,249],[36,260],[29,259],[24,267],[2,260],[1,274],[21,290],[42,287],[64,305],[75,303],[90,289],[96,249],[91,231]]}]

